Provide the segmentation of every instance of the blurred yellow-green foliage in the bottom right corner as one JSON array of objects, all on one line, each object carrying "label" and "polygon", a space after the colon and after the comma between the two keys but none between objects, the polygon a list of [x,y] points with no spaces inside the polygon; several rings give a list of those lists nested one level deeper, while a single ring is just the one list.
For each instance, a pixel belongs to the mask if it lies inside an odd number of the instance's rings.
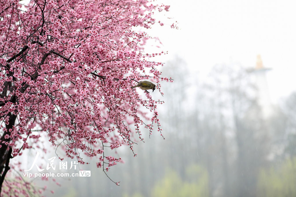
[{"label": "blurred yellow-green foliage in the bottom right corner", "polygon": [[258,196],[296,196],[296,157],[287,159],[278,168],[271,167],[260,171]]}]

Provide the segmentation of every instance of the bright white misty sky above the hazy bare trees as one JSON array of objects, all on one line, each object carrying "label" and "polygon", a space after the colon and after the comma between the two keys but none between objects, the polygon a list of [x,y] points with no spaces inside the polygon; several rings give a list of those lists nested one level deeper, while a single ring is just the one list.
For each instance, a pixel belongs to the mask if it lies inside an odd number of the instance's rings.
[{"label": "bright white misty sky above the hazy bare trees", "polygon": [[[179,30],[156,25],[168,56],[180,56],[202,80],[215,64],[240,62],[254,67],[260,54],[272,68],[267,75],[272,102],[296,90],[296,1],[158,0],[170,5],[167,17]],[[158,28],[159,27],[159,28]],[[192,72],[191,72],[192,73]]]}]

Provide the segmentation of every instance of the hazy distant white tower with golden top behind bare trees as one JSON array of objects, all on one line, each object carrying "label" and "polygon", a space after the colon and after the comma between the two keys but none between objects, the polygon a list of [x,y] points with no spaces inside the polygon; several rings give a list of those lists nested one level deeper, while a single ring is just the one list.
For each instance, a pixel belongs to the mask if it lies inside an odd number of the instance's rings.
[{"label": "hazy distant white tower with golden top behind bare trees", "polygon": [[271,102],[269,97],[268,84],[266,80],[266,73],[270,70],[270,68],[266,68],[263,66],[260,55],[257,55],[255,69],[252,68],[248,70],[255,76],[258,103],[262,109],[262,114],[264,118],[267,118],[271,114]]}]

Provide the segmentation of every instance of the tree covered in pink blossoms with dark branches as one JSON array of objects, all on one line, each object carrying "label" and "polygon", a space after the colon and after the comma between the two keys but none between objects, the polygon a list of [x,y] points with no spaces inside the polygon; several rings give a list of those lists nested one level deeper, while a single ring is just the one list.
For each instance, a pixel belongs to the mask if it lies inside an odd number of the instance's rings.
[{"label": "tree covered in pink blossoms with dark branches", "polygon": [[4,181],[10,159],[40,147],[42,132],[82,164],[81,154],[97,157],[104,171],[120,161],[104,149],[133,149],[140,125],[161,132],[159,102],[130,87],[170,80],[147,59],[163,52],[145,54],[149,37],[138,30],[168,8],[147,0],[0,2],[0,191],[15,189]]}]

